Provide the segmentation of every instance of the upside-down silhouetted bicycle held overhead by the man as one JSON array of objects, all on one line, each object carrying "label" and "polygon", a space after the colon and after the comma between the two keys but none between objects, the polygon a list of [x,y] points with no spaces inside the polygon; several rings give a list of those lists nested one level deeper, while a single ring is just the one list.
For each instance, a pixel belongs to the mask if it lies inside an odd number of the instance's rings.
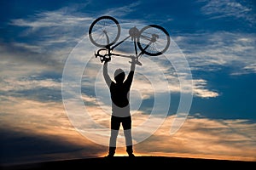
[{"label": "upside-down silhouetted bicycle held overhead by the man", "polygon": [[[112,16],[104,15],[91,23],[89,28],[90,42],[100,48],[95,52],[96,58],[99,57],[102,62],[110,60],[112,56],[134,58],[137,65],[142,65],[138,59],[143,54],[157,56],[165,53],[170,45],[169,33],[162,26],[148,25],[141,30],[133,26],[129,30],[129,35],[118,42],[120,31],[119,21]],[[114,48],[130,37],[134,43],[135,56],[113,53]],[[137,48],[141,50],[140,53],[138,53]]]}]

